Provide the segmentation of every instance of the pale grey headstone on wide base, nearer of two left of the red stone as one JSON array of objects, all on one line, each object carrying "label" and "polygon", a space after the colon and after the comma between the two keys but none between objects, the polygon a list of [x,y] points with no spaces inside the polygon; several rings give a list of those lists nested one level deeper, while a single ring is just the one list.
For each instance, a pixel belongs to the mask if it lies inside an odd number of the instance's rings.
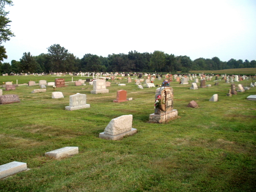
[{"label": "pale grey headstone on wide base, nearer of two left of the red stone", "polygon": [[90,104],[86,104],[86,94],[74,94],[69,96],[69,106],[65,109],[68,111],[89,108]]}]

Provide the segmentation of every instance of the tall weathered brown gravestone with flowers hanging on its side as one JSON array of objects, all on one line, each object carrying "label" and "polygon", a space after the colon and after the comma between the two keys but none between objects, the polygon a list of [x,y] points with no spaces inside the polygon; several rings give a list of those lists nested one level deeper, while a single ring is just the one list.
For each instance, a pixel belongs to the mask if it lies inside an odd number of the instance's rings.
[{"label": "tall weathered brown gravestone with flowers hanging on its side", "polygon": [[178,111],[173,109],[173,89],[171,87],[157,88],[155,94],[155,112],[149,115],[149,122],[163,123],[177,117]]}]

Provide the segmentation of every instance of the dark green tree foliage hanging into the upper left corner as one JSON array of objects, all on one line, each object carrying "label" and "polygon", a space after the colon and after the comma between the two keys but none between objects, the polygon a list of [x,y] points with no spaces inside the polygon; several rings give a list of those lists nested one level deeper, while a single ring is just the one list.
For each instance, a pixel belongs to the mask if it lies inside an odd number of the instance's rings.
[{"label": "dark green tree foliage hanging into the upper left corner", "polygon": [[2,42],[9,41],[14,36],[9,28],[9,23],[12,22],[7,18],[9,12],[4,10],[6,5],[13,6],[13,2],[11,0],[0,0],[0,61],[7,59],[6,49],[1,45]]}]

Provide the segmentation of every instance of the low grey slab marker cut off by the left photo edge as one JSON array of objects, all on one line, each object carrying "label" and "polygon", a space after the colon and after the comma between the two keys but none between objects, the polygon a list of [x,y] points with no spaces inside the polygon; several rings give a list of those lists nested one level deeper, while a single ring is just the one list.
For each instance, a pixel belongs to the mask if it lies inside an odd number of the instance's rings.
[{"label": "low grey slab marker cut off by the left photo edge", "polygon": [[27,164],[13,161],[0,166],[0,179],[10,176],[12,174],[27,170]]}]

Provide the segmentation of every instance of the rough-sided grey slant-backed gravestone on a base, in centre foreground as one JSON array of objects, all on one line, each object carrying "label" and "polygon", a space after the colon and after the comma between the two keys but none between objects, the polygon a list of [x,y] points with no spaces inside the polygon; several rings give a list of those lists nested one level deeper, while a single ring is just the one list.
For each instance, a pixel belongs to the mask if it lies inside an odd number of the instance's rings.
[{"label": "rough-sided grey slant-backed gravestone on a base, in centre foreground", "polygon": [[124,136],[133,135],[137,129],[132,128],[132,115],[123,115],[112,119],[99,138],[106,140],[120,140]]}]

